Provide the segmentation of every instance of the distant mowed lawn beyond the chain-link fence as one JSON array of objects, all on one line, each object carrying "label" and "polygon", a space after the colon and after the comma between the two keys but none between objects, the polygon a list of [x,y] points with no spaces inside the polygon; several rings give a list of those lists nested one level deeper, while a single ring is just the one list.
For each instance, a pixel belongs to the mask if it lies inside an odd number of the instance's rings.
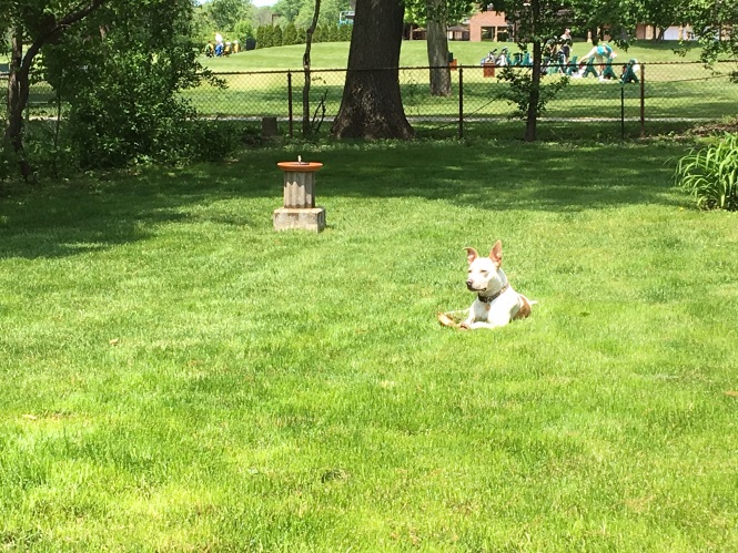
[{"label": "distant mowed lawn beyond the chain-link fence", "polygon": [[[505,100],[509,85],[498,79],[484,78],[479,61],[489,49],[508,47],[516,52],[514,43],[452,42],[449,49],[463,68],[463,111],[467,123],[482,121],[479,134],[501,136],[495,121],[510,117],[517,107]],[[677,55],[677,42],[637,42],[627,52],[618,50],[614,63],[617,74],[629,59],[645,64],[644,115],[648,120],[648,132],[664,132],[663,120],[673,122],[700,119],[719,120],[735,113],[738,88],[729,82],[728,73],[735,63],[720,63],[718,73],[698,63],[699,50],[686,57]],[[576,42],[573,53],[579,58],[589,51],[589,45]],[[191,99],[199,112],[220,116],[277,116],[285,120],[290,113],[289,86],[292,88],[293,117],[302,113],[304,75],[302,57],[304,45],[267,48],[244,51],[229,58],[202,58],[211,70],[219,72],[226,90],[202,85],[184,94]],[[331,121],[338,113],[345,82],[348,42],[317,43],[312,49],[311,114],[322,114]],[[428,90],[427,52],[425,41],[404,41],[400,64],[400,85],[405,113],[415,121],[434,125],[447,136],[455,134],[453,125],[459,113],[459,81],[462,71],[452,72],[452,93],[434,96]],[[292,71],[289,83],[286,70]],[[330,71],[338,70],[338,71]],[[525,71],[525,70],[523,70]],[[231,73],[231,74],[228,74]],[[559,75],[549,75],[544,81],[553,82]],[[569,85],[546,105],[545,117],[577,121],[578,129],[569,134],[588,134],[587,121],[593,119],[615,120],[610,136],[619,136],[621,113],[626,120],[636,122],[629,135],[640,134],[640,84],[619,85],[619,81],[599,82],[594,76],[570,79]],[[623,93],[623,98],[621,98]],[[621,104],[623,101],[623,104]],[[434,123],[435,121],[435,123]],[[449,124],[451,123],[451,124]],[[325,125],[326,127],[330,125]],[[519,125],[518,125],[519,126]],[[520,126],[522,129],[522,126]],[[523,132],[518,131],[517,136]]]}]

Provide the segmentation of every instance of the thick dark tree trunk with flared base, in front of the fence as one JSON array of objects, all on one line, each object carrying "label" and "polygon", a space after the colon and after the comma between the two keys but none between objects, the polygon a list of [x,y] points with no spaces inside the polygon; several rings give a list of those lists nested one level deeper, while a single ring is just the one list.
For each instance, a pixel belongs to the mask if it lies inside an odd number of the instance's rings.
[{"label": "thick dark tree trunk with flared base, in front of the fence", "polygon": [[404,3],[356,2],[348,70],[332,133],[338,139],[411,139],[400,94]]}]

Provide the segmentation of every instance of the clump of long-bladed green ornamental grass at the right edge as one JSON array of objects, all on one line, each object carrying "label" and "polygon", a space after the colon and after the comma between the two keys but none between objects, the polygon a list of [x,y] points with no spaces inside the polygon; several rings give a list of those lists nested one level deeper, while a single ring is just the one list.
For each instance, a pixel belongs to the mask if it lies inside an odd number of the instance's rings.
[{"label": "clump of long-bladed green ornamental grass at the right edge", "polygon": [[675,180],[701,209],[738,209],[738,134],[695,149],[677,164]]}]

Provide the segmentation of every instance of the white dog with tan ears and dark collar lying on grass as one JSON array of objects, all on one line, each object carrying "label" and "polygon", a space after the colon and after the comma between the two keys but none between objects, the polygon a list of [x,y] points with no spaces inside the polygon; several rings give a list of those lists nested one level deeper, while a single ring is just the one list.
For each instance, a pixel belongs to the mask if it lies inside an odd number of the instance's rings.
[{"label": "white dog with tan ears and dark collar lying on grass", "polygon": [[479,257],[474,248],[465,248],[469,262],[466,287],[476,293],[477,298],[469,308],[469,315],[459,328],[495,328],[514,319],[530,315],[530,306],[537,304],[518,294],[507,281],[499,266],[503,263],[503,244],[497,240],[489,257]]}]

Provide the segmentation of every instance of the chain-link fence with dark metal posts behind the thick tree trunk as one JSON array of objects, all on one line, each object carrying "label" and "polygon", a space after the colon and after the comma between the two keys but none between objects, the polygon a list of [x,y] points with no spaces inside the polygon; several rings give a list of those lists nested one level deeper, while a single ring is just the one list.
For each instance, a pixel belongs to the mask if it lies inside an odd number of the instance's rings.
[{"label": "chain-link fence with dark metal posts behind the thick tree trunk", "polygon": [[[546,104],[539,137],[629,139],[683,130],[699,122],[738,114],[738,83],[730,74],[738,61],[706,68],[699,62],[624,63],[592,66],[550,65],[544,85],[567,79],[568,84]],[[327,134],[338,113],[345,69],[310,73],[311,129]],[[514,71],[530,71],[516,66]],[[508,100],[510,85],[502,69],[463,65],[451,71],[448,95],[432,95],[429,68],[401,68],[400,85],[405,114],[418,136],[522,137],[525,122],[515,117],[517,105]],[[603,72],[605,73],[603,75]],[[629,74],[627,74],[629,73]],[[261,126],[274,120],[282,135],[302,134],[303,71],[216,73],[224,89],[203,84],[182,94],[202,117],[243,121]],[[32,86],[29,119],[63,119],[63,101],[44,83]]]}]

